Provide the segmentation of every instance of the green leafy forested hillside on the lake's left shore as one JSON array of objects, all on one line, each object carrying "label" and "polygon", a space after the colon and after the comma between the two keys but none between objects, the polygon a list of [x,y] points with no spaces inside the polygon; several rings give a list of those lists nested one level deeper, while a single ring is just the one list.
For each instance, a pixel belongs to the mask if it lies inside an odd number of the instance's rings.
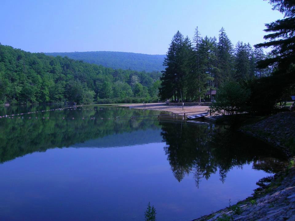
[{"label": "green leafy forested hillside on the lake's left shore", "polygon": [[158,101],[159,76],[0,45],[0,103]]}]

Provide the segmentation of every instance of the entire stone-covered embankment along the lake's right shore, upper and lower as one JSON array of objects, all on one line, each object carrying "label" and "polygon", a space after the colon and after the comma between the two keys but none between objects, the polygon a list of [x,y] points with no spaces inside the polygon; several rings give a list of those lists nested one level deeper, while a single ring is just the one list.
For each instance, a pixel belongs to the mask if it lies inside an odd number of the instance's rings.
[{"label": "entire stone-covered embankment along the lake's right shore, upper and lower", "polygon": [[[281,148],[286,155],[294,156],[295,113],[279,113],[253,125],[241,128],[242,132]],[[286,167],[273,178],[262,179],[252,197],[203,216],[193,221],[232,220],[295,220],[295,157],[290,157]],[[268,185],[263,185],[269,182]]]}]

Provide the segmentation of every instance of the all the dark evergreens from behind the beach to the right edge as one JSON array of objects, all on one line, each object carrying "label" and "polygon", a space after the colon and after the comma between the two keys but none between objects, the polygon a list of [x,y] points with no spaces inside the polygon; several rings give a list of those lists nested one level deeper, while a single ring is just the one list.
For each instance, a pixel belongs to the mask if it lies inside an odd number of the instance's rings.
[{"label": "all the dark evergreens from behind the beach to the right edge", "polygon": [[[295,3],[270,0],[283,19],[265,24],[266,42],[254,48],[249,43],[233,46],[224,28],[215,37],[201,37],[195,29],[193,41],[178,31],[172,38],[159,95],[179,101],[196,100],[217,90],[214,111],[220,113],[270,113],[277,102],[295,94]],[[265,54],[262,48],[269,48]],[[218,95],[219,94],[219,95]],[[220,101],[220,102],[219,102]],[[276,110],[274,110],[276,111]]]}]

